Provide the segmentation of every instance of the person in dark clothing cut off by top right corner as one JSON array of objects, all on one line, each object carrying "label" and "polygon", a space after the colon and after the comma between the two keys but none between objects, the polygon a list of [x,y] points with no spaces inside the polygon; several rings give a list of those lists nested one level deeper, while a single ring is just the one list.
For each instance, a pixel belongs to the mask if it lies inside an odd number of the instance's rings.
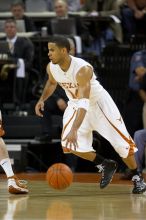
[{"label": "person in dark clothing cut off by top right corner", "polygon": [[127,0],[127,6],[122,9],[122,22],[126,40],[131,35],[145,35],[146,0]]}]

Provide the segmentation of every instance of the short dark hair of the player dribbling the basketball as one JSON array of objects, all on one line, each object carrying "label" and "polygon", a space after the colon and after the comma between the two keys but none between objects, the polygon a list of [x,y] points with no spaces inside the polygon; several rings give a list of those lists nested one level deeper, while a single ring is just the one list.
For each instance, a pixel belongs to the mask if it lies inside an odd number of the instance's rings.
[{"label": "short dark hair of the player dribbling the basketball", "polygon": [[67,37],[64,36],[53,36],[50,38],[49,43],[55,43],[58,47],[65,47],[67,49],[67,52],[70,51],[70,43]]}]

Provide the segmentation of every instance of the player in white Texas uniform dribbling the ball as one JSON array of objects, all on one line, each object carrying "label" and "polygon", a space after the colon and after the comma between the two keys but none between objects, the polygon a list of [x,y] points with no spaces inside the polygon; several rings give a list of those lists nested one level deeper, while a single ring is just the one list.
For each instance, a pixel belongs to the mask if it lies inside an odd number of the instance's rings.
[{"label": "player in white Texas uniform dribbling the ball", "polygon": [[35,106],[35,112],[43,117],[44,101],[51,96],[57,83],[69,99],[63,116],[62,147],[64,153],[73,153],[93,161],[101,171],[100,188],[112,180],[117,163],[97,154],[92,147],[92,131],[106,138],[125,164],[132,170],[133,193],[146,191],[146,184],[137,171],[135,143],[130,137],[114,101],[96,80],[93,67],[81,58],[69,55],[66,38],[58,36],[48,43],[48,81]]}]

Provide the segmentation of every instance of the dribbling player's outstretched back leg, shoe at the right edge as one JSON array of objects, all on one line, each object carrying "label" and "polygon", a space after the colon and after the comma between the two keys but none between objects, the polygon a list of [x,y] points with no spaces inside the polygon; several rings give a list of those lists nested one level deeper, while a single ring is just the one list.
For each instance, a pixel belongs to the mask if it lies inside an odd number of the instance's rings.
[{"label": "dribbling player's outstretched back leg, shoe at the right edge", "polygon": [[138,172],[134,156],[137,148],[127,132],[117,106],[107,92],[104,92],[101,100],[98,102],[97,111],[95,112],[96,116],[94,115],[92,119],[93,125],[95,124],[95,117],[99,118],[95,129],[111,143],[133,174],[133,193],[146,191],[146,184]]}]

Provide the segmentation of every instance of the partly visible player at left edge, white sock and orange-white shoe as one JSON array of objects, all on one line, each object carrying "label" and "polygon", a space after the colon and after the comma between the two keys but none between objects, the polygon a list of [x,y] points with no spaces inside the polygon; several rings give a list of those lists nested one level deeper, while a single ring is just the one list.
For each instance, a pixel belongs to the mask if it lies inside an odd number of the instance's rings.
[{"label": "partly visible player at left edge, white sock and orange-white shoe", "polygon": [[2,128],[2,117],[0,111],[0,165],[5,171],[6,176],[8,178],[8,191],[11,194],[26,194],[28,193],[26,181],[18,180],[18,178],[14,175],[14,172],[12,170],[10,158],[6,150],[5,143],[2,139],[4,133],[5,132]]}]

